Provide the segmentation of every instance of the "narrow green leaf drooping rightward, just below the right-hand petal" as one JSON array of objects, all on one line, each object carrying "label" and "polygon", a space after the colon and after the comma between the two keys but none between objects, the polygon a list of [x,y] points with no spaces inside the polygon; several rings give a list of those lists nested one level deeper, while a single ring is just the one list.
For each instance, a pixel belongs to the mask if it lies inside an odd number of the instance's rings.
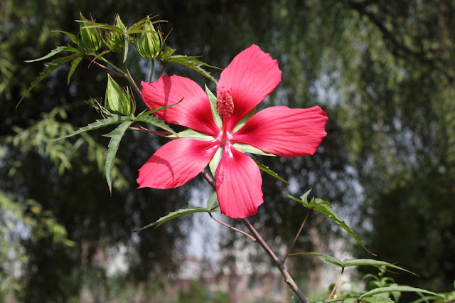
[{"label": "narrow green leaf drooping rightward, just below the right-hand petal", "polygon": [[350,229],[350,227],[343,221],[341,218],[338,216],[338,214],[333,211],[333,208],[331,206],[331,203],[328,201],[323,201],[321,198],[312,198],[310,202],[308,202],[307,198],[310,193],[311,189],[304,193],[300,198],[295,198],[294,196],[288,195],[287,193],[284,193],[288,198],[291,198],[292,200],[301,203],[301,205],[305,206],[306,208],[309,209],[314,209],[314,211],[318,211],[319,213],[322,213],[324,216],[327,218],[333,220],[336,224],[340,225],[341,228],[346,230],[348,234],[354,238],[355,241],[357,241],[360,246],[367,252],[369,252],[371,255],[375,255],[373,252],[370,252],[368,248],[363,245],[362,242],[360,242],[360,239],[358,238],[357,235],[353,232],[353,230]]}]

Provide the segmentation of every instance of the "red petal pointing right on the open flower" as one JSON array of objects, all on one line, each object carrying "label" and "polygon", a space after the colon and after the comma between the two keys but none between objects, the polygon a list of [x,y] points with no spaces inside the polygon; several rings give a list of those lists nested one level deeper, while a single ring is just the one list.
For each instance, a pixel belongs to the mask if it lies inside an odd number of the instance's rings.
[{"label": "red petal pointing right on the open flower", "polygon": [[319,106],[268,107],[232,134],[232,142],[250,144],[278,156],[308,156],[316,152],[326,137],[326,121],[327,114]]}]

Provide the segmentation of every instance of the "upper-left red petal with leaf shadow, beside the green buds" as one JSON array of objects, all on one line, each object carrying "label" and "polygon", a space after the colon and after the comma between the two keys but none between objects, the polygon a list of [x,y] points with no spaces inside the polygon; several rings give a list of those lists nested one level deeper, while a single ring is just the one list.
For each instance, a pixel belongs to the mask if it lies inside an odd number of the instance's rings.
[{"label": "upper-left red petal with leaf shadow, beside the green buds", "polygon": [[142,82],[142,98],[154,110],[173,105],[156,112],[156,116],[170,124],[179,124],[216,137],[220,130],[213,121],[210,102],[198,83],[185,77],[162,76],[153,83]]}]

